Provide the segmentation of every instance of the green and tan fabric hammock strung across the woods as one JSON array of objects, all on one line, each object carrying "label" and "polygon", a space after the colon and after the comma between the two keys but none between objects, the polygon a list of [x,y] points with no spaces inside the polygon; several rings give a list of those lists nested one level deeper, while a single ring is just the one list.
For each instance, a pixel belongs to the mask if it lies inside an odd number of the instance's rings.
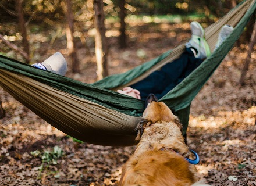
[{"label": "green and tan fabric hammock strung across the woods", "polygon": [[[234,27],[232,34],[209,58],[160,99],[182,121],[183,135],[186,135],[191,101],[243,33],[256,9],[255,1],[241,2],[205,29],[205,38],[213,51],[221,27],[225,24]],[[108,76],[93,84],[0,56],[0,85],[36,115],[71,137],[91,144],[130,146],[135,144],[136,126],[144,111],[144,101],[115,91],[143,80],[177,59],[183,51],[184,44],[181,44],[126,73]]]}]

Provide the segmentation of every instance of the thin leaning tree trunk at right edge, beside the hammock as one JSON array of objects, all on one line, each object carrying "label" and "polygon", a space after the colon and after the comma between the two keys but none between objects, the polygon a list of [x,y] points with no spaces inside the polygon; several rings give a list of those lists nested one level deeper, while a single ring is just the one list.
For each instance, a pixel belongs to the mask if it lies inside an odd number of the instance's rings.
[{"label": "thin leaning tree trunk at right edge, beside the hammock", "polygon": [[251,34],[251,40],[250,40],[249,49],[247,52],[246,62],[244,63],[244,67],[239,80],[240,85],[244,85],[244,79],[246,78],[246,73],[249,69],[249,63],[251,61],[251,52],[253,52],[253,47],[255,42],[256,42],[256,21],[254,23],[253,34]]}]

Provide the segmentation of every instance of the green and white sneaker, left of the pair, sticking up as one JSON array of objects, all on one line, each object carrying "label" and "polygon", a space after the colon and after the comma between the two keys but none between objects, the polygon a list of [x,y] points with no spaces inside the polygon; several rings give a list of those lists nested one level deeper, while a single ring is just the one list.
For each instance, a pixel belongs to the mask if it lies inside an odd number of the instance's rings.
[{"label": "green and white sneaker, left of the pair, sticking up", "polygon": [[211,55],[211,49],[204,38],[204,28],[198,22],[190,23],[192,37],[185,44],[186,48],[190,48],[194,52],[195,58],[205,59]]}]

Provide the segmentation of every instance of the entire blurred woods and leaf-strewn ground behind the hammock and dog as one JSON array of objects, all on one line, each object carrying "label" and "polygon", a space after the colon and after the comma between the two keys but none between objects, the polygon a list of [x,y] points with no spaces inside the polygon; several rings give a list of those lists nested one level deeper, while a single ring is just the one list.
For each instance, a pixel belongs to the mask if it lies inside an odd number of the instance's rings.
[{"label": "entire blurred woods and leaf-strewn ground behind the hammock and dog", "polygon": [[[93,83],[174,48],[190,38],[191,21],[207,27],[239,2],[2,0],[0,54],[31,64],[58,51],[67,77]],[[191,105],[188,143],[212,185],[256,185],[254,23],[255,14]],[[0,118],[3,185],[115,185],[134,150],[73,140],[2,88]]]}]

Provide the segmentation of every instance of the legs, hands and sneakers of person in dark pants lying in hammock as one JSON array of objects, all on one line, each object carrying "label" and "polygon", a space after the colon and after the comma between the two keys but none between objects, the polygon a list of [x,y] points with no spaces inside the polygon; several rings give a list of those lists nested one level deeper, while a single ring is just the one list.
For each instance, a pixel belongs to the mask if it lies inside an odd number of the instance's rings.
[{"label": "legs, hands and sneakers of person in dark pants lying in hammock", "polygon": [[[172,63],[167,63],[143,80],[117,92],[143,100],[147,98],[148,94],[152,93],[160,99],[176,87],[185,77],[189,76],[193,70],[211,55],[209,45],[204,38],[204,28],[198,22],[191,22],[190,28],[192,37],[185,44],[186,49],[180,58]],[[233,29],[232,26],[227,25],[222,27],[215,49],[221,45]]]}]

